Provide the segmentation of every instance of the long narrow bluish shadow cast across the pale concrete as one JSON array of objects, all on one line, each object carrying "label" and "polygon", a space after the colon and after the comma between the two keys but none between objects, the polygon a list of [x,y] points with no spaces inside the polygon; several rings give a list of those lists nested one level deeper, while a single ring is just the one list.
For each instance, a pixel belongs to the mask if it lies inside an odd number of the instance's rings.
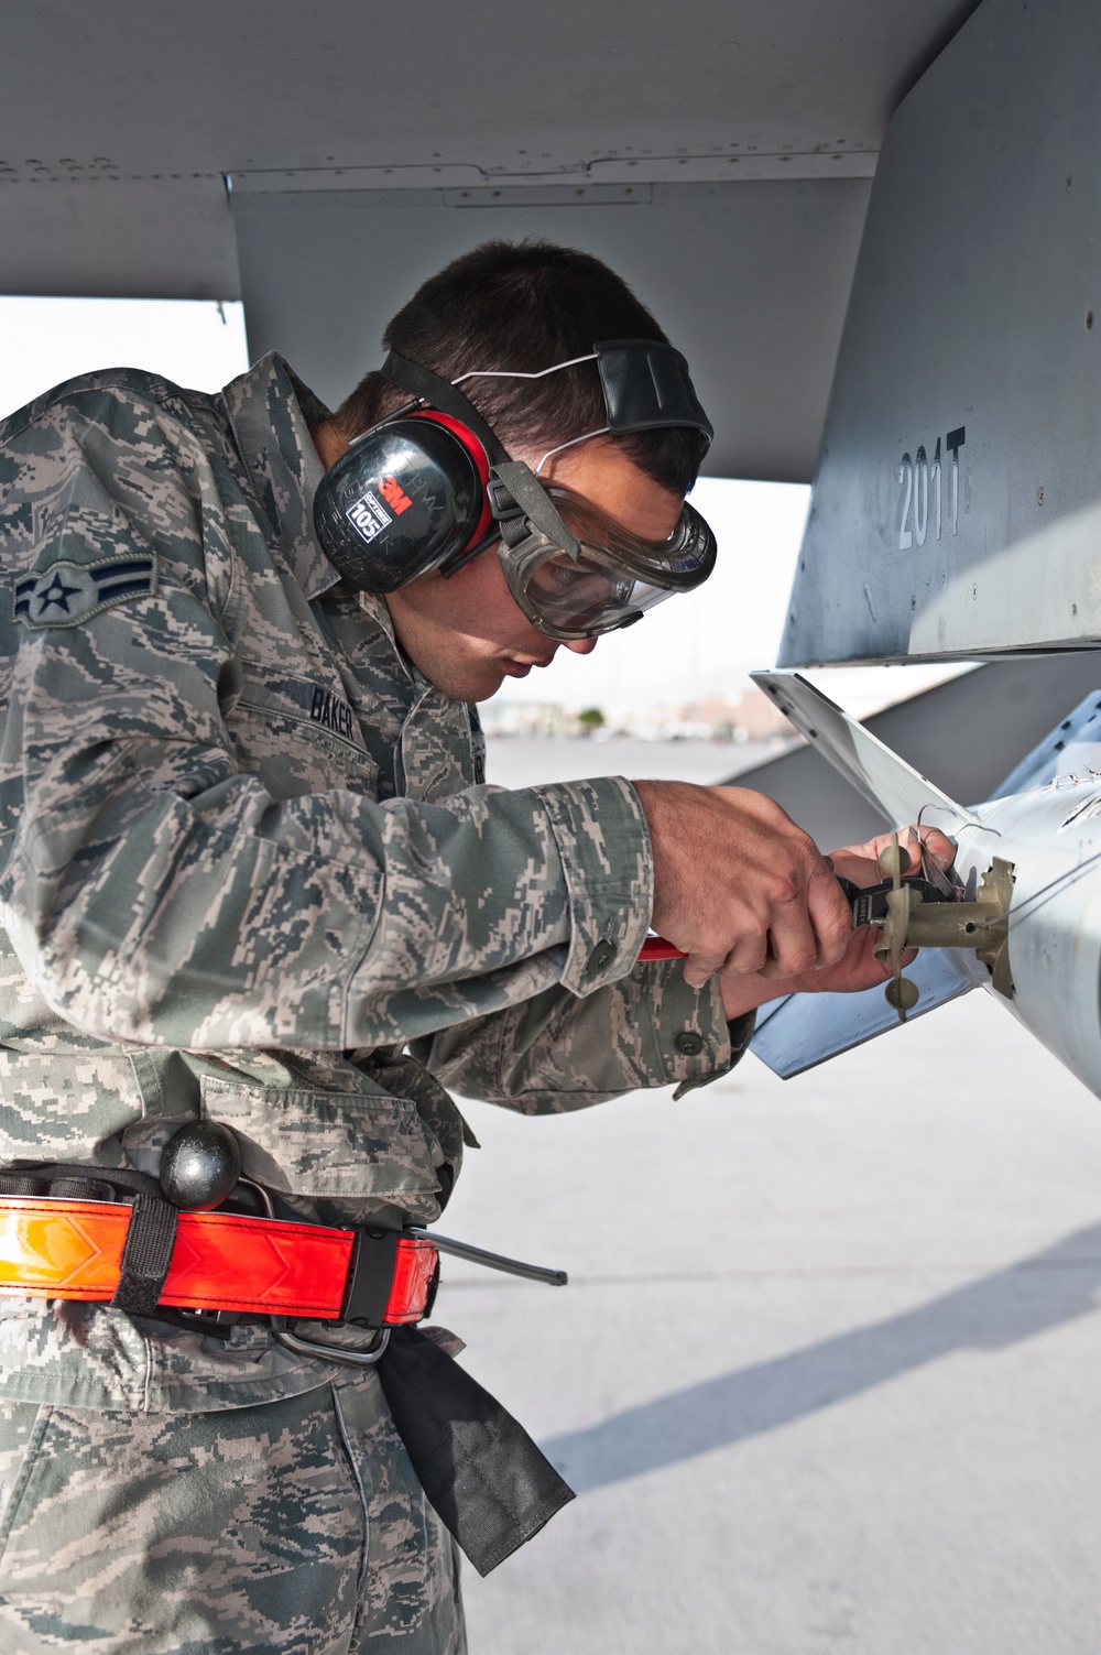
[{"label": "long narrow bluish shadow cast across the pale concrete", "polygon": [[541,1446],[583,1494],[776,1430],[954,1350],[1031,1339],[1098,1309],[1098,1289],[1101,1225],[1091,1225],[902,1316],[689,1385]]}]

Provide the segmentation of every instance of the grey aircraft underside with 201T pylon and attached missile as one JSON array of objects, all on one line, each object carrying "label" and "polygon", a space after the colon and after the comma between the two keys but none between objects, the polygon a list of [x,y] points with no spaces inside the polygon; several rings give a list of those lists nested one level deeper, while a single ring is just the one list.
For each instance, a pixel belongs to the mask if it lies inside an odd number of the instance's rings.
[{"label": "grey aircraft underside with 201T pylon and attached missile", "polygon": [[[478,240],[621,270],[697,371],[707,468],[815,480],[781,664],[985,662],[873,722],[916,770],[871,780],[775,677],[808,745],[740,780],[823,842],[950,806],[964,897],[997,834],[1000,998],[1101,1091],[1096,0],[639,0],[629,30],[601,0],[31,0],[0,41],[5,291],[242,298],[252,353],[336,399]],[[988,965],[930,950],[917,1010]],[[795,1072],[886,1028],[874,998],[780,1006],[757,1049]]]}]

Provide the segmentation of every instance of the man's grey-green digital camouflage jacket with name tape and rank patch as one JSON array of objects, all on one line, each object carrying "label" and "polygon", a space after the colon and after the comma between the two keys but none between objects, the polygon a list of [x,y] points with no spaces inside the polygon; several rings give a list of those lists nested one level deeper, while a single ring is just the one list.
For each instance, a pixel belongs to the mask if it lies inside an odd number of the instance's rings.
[{"label": "man's grey-green digital camouflage jacket with name tape and rank patch", "polygon": [[[0,425],[7,1167],[156,1172],[214,1117],[286,1216],[425,1221],[462,1160],[440,1082],[573,1109],[735,1058],[715,993],[634,963],[629,783],[485,786],[475,712],[339,583],[325,412],[272,356],[215,397],[91,374]],[[262,1324],[22,1296],[0,1367],[8,1397],[146,1408],[331,1372]]]}]

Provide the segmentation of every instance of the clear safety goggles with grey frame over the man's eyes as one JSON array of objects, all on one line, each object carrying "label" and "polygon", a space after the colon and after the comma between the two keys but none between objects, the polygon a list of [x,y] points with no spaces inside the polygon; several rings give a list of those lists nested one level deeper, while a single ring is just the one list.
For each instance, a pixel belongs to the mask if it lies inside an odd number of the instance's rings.
[{"label": "clear safety goggles with grey frame over the man's eyes", "polygon": [[[581,495],[543,485],[551,511],[525,516],[522,540],[498,543],[498,558],[531,626],[573,642],[641,621],[647,609],[700,586],[715,568],[715,536],[685,505],[669,540],[631,535]],[[555,533],[555,520],[565,533]]]}]

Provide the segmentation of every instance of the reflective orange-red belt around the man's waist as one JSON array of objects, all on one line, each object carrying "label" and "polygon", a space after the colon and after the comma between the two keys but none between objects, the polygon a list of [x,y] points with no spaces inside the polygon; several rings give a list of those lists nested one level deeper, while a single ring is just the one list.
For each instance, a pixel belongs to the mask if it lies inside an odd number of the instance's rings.
[{"label": "reflective orange-red belt around the man's waist", "polygon": [[[119,1284],[131,1213],[124,1202],[0,1195],[0,1294],[109,1301]],[[439,1263],[435,1246],[422,1236],[326,1230],[225,1211],[179,1215],[157,1302],[194,1311],[359,1319],[363,1294],[356,1278],[368,1235],[384,1248],[373,1259],[376,1278],[376,1266],[382,1266],[382,1291],[376,1279],[369,1293],[382,1312],[381,1326],[421,1321]],[[377,1311],[369,1322],[379,1326]]]}]

